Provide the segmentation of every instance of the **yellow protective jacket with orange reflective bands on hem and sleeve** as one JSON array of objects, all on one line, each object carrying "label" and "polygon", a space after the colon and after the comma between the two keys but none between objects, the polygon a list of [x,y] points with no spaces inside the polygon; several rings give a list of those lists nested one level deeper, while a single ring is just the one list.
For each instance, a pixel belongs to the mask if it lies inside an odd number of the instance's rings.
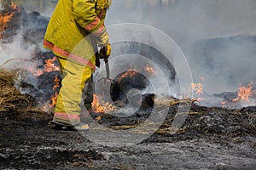
[{"label": "yellow protective jacket with orange reflective bands on hem and sleeve", "polygon": [[44,35],[44,48],[95,70],[96,44],[108,43],[104,20],[111,0],[59,0]]}]

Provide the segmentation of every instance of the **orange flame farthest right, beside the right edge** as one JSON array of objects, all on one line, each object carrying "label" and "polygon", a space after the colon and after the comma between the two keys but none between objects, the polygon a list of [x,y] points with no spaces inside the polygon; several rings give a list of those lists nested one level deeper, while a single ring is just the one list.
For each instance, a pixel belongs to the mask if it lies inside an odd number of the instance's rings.
[{"label": "orange flame farthest right, beside the right edge", "polygon": [[236,101],[247,102],[247,101],[249,101],[249,98],[253,97],[252,89],[253,89],[253,83],[252,82],[249,83],[247,85],[247,87],[240,85],[239,91],[237,93],[237,98],[233,99],[233,102],[236,102]]}]

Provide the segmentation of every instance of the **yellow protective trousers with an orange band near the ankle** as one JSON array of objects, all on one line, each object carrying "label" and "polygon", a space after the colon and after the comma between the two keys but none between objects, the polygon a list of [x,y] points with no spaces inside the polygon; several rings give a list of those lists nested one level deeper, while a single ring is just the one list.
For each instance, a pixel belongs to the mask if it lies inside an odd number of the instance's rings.
[{"label": "yellow protective trousers with an orange band near the ankle", "polygon": [[61,69],[61,89],[55,105],[54,122],[67,125],[80,123],[83,89],[90,80],[92,69],[69,59],[57,57]]}]

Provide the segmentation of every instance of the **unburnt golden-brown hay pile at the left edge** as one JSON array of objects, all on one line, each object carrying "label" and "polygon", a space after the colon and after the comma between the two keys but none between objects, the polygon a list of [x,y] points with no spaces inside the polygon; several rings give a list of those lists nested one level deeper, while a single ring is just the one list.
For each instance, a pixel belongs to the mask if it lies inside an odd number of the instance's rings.
[{"label": "unburnt golden-brown hay pile at the left edge", "polygon": [[19,120],[48,120],[51,115],[35,105],[35,99],[20,91],[14,85],[15,71],[0,70],[0,117]]}]

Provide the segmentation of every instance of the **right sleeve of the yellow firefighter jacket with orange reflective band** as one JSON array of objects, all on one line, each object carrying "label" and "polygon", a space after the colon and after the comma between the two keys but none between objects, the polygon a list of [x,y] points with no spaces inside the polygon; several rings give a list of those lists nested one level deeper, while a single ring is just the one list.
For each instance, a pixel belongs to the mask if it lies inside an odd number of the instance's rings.
[{"label": "right sleeve of the yellow firefighter jacket with orange reflective band", "polygon": [[108,44],[106,27],[96,15],[96,0],[73,0],[73,11],[79,26],[96,36],[99,45]]}]

